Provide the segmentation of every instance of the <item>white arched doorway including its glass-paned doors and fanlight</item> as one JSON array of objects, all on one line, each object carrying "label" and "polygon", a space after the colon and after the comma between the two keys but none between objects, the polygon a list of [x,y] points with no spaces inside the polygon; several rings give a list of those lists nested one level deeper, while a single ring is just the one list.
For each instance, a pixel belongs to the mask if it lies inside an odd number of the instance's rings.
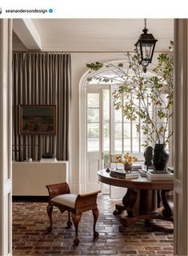
[{"label": "white arched doorway including its glass-paned doors and fanlight", "polygon": [[[125,65],[128,66],[128,62],[125,61]],[[146,76],[154,74],[153,68],[154,65],[149,66]],[[97,71],[95,74],[109,78],[117,76],[111,67],[102,68],[100,73]],[[116,83],[96,82],[90,79],[88,81],[90,75],[86,72],[80,81],[80,181],[83,191],[86,192],[99,189],[97,171],[111,166],[111,155],[129,152],[143,162],[145,147],[142,144],[147,139],[146,134],[137,131],[137,126],[142,124],[141,118],[131,121],[123,115],[121,109],[116,110],[114,107],[113,93],[121,84],[121,81],[118,81],[119,77]],[[132,96],[130,93],[130,98]],[[147,104],[150,106],[149,102]],[[154,111],[154,108],[151,111]]]}]

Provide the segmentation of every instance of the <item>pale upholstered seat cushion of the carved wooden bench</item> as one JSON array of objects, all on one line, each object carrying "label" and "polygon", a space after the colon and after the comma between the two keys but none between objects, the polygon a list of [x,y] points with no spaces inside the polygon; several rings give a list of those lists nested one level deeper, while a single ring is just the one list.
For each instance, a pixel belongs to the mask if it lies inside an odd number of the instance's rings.
[{"label": "pale upholstered seat cushion of the carved wooden bench", "polygon": [[78,195],[76,195],[76,194],[60,194],[57,197],[52,198],[51,201],[57,202],[63,206],[68,206],[70,208],[74,208],[76,198],[78,198]]}]

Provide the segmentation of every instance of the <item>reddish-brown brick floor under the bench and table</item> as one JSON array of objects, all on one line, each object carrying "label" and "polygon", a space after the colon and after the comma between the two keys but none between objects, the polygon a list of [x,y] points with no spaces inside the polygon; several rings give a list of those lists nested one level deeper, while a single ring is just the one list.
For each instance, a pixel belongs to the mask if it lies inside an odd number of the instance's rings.
[{"label": "reddish-brown brick floor under the bench and table", "polygon": [[73,245],[74,227],[66,229],[66,213],[54,208],[53,231],[47,234],[49,220],[46,202],[13,202],[14,255],[174,255],[173,224],[154,220],[147,226],[134,224],[128,233],[119,232],[119,217],[108,195],[98,196],[99,238],[93,239],[91,212],[82,214],[78,246]]}]

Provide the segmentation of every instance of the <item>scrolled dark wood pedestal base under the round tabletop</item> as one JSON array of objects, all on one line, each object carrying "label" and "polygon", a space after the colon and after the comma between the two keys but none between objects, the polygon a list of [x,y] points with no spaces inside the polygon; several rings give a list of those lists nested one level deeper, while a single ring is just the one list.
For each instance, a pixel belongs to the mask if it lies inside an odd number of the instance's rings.
[{"label": "scrolled dark wood pedestal base under the round tabletop", "polygon": [[128,189],[124,198],[123,206],[116,205],[115,215],[127,211],[126,217],[121,217],[123,226],[120,231],[130,230],[134,222],[145,219],[162,219],[173,222],[173,203],[168,198],[169,190],[130,190]]}]

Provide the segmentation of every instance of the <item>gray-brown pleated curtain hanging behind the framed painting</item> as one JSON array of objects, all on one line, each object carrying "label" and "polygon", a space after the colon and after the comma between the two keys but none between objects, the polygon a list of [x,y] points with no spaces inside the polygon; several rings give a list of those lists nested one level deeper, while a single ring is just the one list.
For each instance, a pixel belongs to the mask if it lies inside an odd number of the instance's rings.
[{"label": "gray-brown pleated curtain hanging behind the framed painting", "polygon": [[[69,159],[70,54],[13,53],[13,160]],[[57,133],[19,134],[19,105],[55,105]]]}]

